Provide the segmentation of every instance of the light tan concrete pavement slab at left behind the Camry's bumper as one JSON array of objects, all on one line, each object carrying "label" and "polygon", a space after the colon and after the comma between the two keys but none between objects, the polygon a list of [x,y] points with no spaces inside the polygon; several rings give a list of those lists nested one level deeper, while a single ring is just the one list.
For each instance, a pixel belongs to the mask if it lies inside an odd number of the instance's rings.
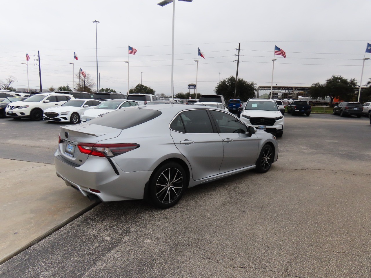
[{"label": "light tan concrete pavement slab at left behind the Camry's bumper", "polygon": [[0,159],[0,264],[96,203],[67,187],[52,164]]}]

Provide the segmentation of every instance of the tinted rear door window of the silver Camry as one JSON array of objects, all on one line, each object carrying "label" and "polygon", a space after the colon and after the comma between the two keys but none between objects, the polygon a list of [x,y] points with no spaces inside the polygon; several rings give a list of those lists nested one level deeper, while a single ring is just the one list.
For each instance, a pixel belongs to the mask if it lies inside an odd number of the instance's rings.
[{"label": "tinted rear door window of the silver Camry", "polygon": [[185,133],[213,133],[206,110],[189,110],[180,113]]}]

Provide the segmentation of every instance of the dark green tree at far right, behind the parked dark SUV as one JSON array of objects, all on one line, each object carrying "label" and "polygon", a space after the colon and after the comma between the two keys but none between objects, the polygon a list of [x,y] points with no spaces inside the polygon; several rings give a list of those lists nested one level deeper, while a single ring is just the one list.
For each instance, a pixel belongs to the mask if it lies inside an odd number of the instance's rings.
[{"label": "dark green tree at far right, behind the parked dark SUV", "polygon": [[314,83],[309,88],[309,96],[313,99],[325,99],[330,97],[330,106],[334,98],[349,101],[354,100],[354,89],[357,87],[357,80],[354,78],[348,80],[340,75],[333,75],[325,83]]}]

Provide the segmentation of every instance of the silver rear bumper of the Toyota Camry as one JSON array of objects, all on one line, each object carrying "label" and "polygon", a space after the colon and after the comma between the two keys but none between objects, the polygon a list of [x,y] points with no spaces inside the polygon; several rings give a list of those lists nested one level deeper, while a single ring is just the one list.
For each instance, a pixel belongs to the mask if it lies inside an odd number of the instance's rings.
[{"label": "silver rear bumper of the Toyota Camry", "polygon": [[[83,165],[75,165],[54,154],[56,174],[67,186],[77,188],[84,196],[95,194],[102,201],[123,201],[143,199],[145,183],[152,171],[124,172],[112,160],[119,173],[117,175],[108,159],[89,156]],[[99,190],[101,193],[89,190]]]}]

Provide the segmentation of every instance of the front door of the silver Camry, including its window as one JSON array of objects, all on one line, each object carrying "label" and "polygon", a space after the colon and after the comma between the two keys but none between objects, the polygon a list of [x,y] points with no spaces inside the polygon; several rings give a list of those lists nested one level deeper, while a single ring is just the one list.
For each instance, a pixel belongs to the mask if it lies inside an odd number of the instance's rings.
[{"label": "front door of the silver Camry, including its window", "polygon": [[258,138],[249,134],[247,126],[227,112],[210,110],[221,139],[223,162],[220,173],[254,165],[257,159]]}]

